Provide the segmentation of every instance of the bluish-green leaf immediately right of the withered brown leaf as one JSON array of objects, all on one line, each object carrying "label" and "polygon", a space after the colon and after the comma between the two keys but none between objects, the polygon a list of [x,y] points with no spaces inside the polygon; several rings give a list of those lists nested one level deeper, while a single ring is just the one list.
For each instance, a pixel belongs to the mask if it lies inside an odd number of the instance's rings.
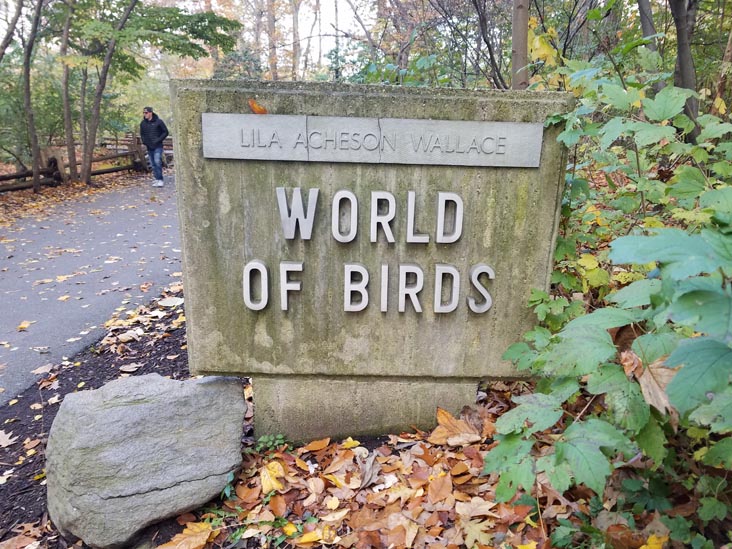
[{"label": "bluish-green leaf immediately right of the withered brown leaf", "polygon": [[671,404],[681,414],[707,400],[707,393],[727,387],[732,373],[732,349],[711,338],[683,341],[666,360],[666,366],[683,366],[666,388]]}]

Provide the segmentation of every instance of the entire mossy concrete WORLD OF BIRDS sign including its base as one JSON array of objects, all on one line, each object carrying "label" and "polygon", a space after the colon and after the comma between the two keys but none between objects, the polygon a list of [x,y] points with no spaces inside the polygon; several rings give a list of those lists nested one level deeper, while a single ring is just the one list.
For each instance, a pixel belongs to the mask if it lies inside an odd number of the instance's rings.
[{"label": "entire mossy concrete WORLD OF BIRDS sign including its base", "polygon": [[251,376],[255,430],[294,439],[429,427],[515,376],[564,185],[543,121],[571,104],[174,83],[192,372]]}]

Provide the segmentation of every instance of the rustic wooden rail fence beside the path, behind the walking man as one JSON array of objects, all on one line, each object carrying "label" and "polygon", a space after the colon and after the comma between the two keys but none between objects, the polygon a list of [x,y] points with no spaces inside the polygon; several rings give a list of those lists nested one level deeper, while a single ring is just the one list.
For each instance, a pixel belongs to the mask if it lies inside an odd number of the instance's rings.
[{"label": "rustic wooden rail fence beside the path, behind the walking man", "polygon": [[[92,159],[92,172],[91,175],[103,175],[106,173],[121,172],[121,171],[137,171],[146,172],[149,171],[150,165],[146,159],[145,147],[140,142],[140,138],[128,133],[122,138],[115,138],[114,140],[106,140],[103,145],[107,150],[111,151],[109,154],[98,156]],[[170,164],[173,159],[173,140],[168,138],[163,143],[165,151],[164,162]],[[42,151],[41,163],[43,167],[40,170],[42,177],[41,185],[55,186],[68,182],[69,174],[67,169],[69,163],[64,161],[65,148],[53,147]],[[59,158],[60,157],[60,158]],[[117,159],[126,159],[127,161],[118,166],[111,166],[105,168],[94,169],[94,164],[100,162],[110,162]],[[81,165],[81,161],[76,162],[77,166]],[[30,189],[33,187],[33,181],[29,180],[33,178],[33,172],[25,170],[22,172],[16,172],[11,174],[0,175],[0,193],[5,191],[16,191],[21,189]],[[16,183],[3,183],[5,181],[17,181]]]}]

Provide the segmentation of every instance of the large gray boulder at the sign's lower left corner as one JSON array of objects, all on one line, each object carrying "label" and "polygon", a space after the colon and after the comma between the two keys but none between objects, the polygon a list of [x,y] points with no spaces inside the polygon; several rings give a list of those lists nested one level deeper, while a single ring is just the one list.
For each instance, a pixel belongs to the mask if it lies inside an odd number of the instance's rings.
[{"label": "large gray boulder at the sign's lower left corner", "polygon": [[241,464],[245,410],[232,378],[152,374],[67,395],[46,450],[51,519],[62,534],[115,548],[206,503]]}]

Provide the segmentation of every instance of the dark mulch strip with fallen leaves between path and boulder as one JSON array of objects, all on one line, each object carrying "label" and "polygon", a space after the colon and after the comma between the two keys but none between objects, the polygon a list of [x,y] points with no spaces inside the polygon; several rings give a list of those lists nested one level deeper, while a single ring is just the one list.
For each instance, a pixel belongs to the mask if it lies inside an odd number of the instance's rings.
[{"label": "dark mulch strip with fallen leaves between path and boulder", "polygon": [[[182,289],[164,297],[180,296]],[[11,439],[17,438],[16,443],[0,447],[0,546],[24,532],[35,534],[29,537],[39,537],[48,547],[67,545],[48,519],[44,471],[48,433],[64,395],[96,389],[121,376],[157,373],[172,379],[189,377],[185,325],[174,322],[182,307],[162,309],[156,306],[158,302],[144,308],[141,317],[146,317],[146,311],[162,311],[165,316],[140,328],[138,340],[121,343],[118,337],[108,336],[61,364],[49,364],[36,386],[0,407],[0,429],[11,433]],[[110,333],[124,333],[121,321],[110,324]],[[176,527],[175,521],[162,526],[168,539]]]}]

